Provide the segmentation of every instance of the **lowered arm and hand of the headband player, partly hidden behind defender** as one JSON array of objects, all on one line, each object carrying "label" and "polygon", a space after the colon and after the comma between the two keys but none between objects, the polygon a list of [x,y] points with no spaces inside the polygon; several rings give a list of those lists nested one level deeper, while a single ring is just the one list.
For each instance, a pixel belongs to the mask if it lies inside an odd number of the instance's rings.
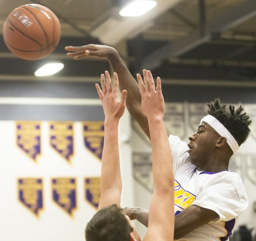
[{"label": "lowered arm and hand of the headband player, partly hidden behind defender", "polygon": [[[131,219],[136,219],[144,226],[148,227],[148,210],[140,207],[129,207],[124,209],[126,215]],[[181,239],[194,229],[209,223],[218,217],[215,211],[190,205],[180,214],[175,216],[174,222],[174,239]]]}]

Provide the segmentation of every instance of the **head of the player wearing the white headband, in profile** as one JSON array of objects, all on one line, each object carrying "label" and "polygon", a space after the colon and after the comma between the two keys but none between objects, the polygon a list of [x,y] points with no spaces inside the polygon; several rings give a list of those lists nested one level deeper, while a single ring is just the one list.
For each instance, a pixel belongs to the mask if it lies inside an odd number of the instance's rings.
[{"label": "head of the player wearing the white headband, in profile", "polygon": [[202,119],[198,131],[189,136],[190,161],[200,166],[216,157],[229,160],[239,146],[247,139],[251,124],[250,117],[241,106],[235,111],[234,106],[220,105],[220,100],[208,104],[209,116]]}]

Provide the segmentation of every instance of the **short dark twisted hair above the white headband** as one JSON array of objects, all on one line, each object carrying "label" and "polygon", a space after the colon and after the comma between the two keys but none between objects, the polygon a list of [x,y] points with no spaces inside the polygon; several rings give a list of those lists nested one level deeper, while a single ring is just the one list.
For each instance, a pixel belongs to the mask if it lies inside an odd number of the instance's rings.
[{"label": "short dark twisted hair above the white headband", "polygon": [[250,129],[249,125],[252,123],[250,117],[246,113],[242,113],[244,108],[240,106],[236,111],[233,105],[226,109],[226,105],[221,105],[219,99],[208,104],[208,114],[215,117],[226,129],[234,136],[238,145],[240,146],[247,139]]}]

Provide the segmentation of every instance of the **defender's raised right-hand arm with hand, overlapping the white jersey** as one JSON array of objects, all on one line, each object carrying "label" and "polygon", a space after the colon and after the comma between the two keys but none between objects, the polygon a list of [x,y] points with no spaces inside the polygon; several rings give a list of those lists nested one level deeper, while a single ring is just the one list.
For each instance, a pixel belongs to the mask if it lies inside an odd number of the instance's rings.
[{"label": "defender's raised right-hand arm with hand, overlapping the white jersey", "polygon": [[144,83],[137,75],[142,110],[148,117],[152,142],[154,192],[150,201],[145,241],[170,241],[174,237],[174,174],[172,153],[164,126],[164,97],[161,80],[155,87],[150,71],[143,70]]}]

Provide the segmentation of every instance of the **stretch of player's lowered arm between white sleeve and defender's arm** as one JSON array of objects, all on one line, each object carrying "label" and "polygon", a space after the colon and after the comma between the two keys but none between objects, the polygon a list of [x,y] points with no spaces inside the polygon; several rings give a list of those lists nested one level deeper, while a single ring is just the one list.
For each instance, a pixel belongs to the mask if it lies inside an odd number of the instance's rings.
[{"label": "stretch of player's lowered arm between white sleeve and defender's arm", "polygon": [[194,229],[209,223],[218,217],[218,214],[210,209],[190,205],[175,216],[174,239],[180,239]]}]

